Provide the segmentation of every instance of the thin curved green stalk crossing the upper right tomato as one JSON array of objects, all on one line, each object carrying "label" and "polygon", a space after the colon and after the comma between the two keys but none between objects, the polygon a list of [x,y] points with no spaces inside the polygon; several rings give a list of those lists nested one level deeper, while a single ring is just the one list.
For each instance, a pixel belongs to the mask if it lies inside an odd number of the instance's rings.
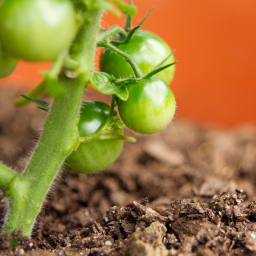
[{"label": "thin curved green stalk crossing the upper right tomato", "polygon": [[117,53],[118,55],[122,56],[130,64],[130,66],[131,66],[131,68],[132,68],[132,70],[133,70],[133,72],[134,72],[134,74],[137,78],[141,78],[143,76],[140,68],[138,67],[136,62],[133,60],[133,58],[129,54],[127,54],[127,53],[123,52],[122,50],[116,48],[110,42],[98,41],[97,42],[97,47],[105,47],[105,48]]}]

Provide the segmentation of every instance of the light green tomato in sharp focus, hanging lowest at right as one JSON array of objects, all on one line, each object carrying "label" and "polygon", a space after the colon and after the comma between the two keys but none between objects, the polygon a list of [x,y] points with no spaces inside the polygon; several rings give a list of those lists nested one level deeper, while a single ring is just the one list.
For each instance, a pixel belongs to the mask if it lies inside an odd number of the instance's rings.
[{"label": "light green tomato in sharp focus, hanging lowest at right", "polygon": [[164,128],[175,112],[175,98],[169,86],[158,77],[127,84],[129,97],[119,99],[118,111],[128,128],[142,134]]}]

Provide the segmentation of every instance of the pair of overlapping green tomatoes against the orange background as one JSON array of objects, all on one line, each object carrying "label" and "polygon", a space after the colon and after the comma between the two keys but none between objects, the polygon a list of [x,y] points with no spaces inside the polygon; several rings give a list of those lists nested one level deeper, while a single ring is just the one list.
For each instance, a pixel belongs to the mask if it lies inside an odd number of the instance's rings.
[{"label": "pair of overlapping green tomatoes against the orange background", "polygon": [[[171,53],[161,38],[144,30],[138,30],[130,41],[115,46],[134,59],[143,75]],[[171,55],[165,64],[173,62],[174,58]],[[100,70],[116,78],[134,75],[124,58],[112,54],[109,49],[102,52]],[[175,98],[167,85],[173,74],[174,65],[171,65],[153,77],[126,85],[129,97],[126,101],[119,99],[118,110],[128,128],[138,133],[151,134],[167,126],[175,113]]]}]

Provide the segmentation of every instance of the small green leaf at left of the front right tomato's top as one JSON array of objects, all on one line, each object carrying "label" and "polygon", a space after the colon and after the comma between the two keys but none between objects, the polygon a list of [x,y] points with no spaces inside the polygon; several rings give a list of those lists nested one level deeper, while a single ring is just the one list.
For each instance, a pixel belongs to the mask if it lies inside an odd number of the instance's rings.
[{"label": "small green leaf at left of the front right tomato's top", "polygon": [[91,86],[103,94],[114,94],[122,100],[127,100],[129,92],[124,84],[117,86],[113,77],[104,72],[94,72],[90,77]]}]

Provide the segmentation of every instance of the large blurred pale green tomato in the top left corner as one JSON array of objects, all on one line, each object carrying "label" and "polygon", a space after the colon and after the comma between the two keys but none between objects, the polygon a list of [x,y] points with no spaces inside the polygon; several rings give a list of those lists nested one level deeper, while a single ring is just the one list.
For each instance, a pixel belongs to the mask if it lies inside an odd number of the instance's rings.
[{"label": "large blurred pale green tomato in the top left corner", "polygon": [[12,57],[54,60],[75,31],[70,0],[4,0],[0,6],[0,41]]}]

